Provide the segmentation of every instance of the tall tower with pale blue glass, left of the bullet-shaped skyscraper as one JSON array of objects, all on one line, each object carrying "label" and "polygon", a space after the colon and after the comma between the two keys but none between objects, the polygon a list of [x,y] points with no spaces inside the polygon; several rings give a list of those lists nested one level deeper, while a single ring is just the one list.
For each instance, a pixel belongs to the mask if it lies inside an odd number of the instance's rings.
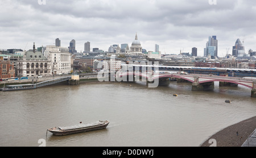
[{"label": "tall tower with pale blue glass, left of the bullet-shaped skyscraper", "polygon": [[204,48],[204,56],[211,56],[212,59],[218,56],[218,40],[216,36],[209,36],[209,41],[207,41]]}]

